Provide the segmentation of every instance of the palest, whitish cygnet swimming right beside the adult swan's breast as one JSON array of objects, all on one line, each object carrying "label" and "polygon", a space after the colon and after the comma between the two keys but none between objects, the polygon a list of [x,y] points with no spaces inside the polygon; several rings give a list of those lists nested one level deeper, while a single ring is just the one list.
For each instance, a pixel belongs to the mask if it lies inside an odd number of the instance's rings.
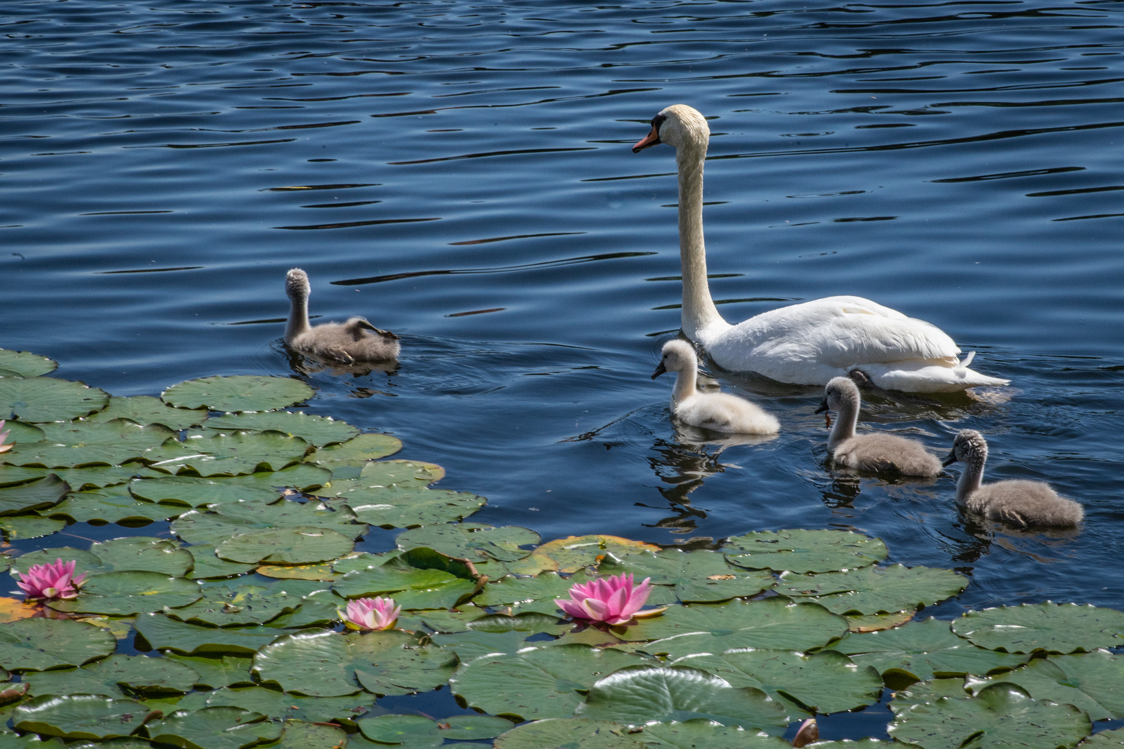
[{"label": "palest, whitish cygnet swimming right beside the adult swan's breast", "polygon": [[669,340],[663,345],[663,356],[652,380],[664,372],[679,373],[671,391],[671,412],[683,423],[735,435],[780,431],[777,418],[755,403],[729,393],[700,393],[696,387],[698,358],[686,340]]}]

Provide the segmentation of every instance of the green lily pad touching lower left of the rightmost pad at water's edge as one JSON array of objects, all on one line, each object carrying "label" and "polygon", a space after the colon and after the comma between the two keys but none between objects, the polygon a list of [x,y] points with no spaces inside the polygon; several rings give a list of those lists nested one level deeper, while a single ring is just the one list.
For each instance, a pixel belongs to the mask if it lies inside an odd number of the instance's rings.
[{"label": "green lily pad touching lower left of the rightmost pad at water's edge", "polygon": [[1026,661],[1026,656],[978,648],[953,634],[949,622],[933,618],[897,629],[847,634],[831,647],[851,656],[856,664],[923,682],[968,674],[985,676]]}]

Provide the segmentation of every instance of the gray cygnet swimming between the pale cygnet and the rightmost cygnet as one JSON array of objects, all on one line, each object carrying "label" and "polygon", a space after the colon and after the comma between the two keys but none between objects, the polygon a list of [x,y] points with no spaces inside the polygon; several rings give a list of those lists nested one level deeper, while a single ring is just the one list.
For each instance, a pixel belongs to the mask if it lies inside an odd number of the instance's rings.
[{"label": "gray cygnet swimming between the pale cygnet and the rightmost cygnet", "polygon": [[855,435],[859,423],[859,389],[846,377],[834,377],[824,389],[824,400],[816,409],[828,409],[837,417],[827,438],[827,451],[836,463],[859,471],[899,473],[906,476],[936,476],[941,462],[915,439],[870,432]]}]

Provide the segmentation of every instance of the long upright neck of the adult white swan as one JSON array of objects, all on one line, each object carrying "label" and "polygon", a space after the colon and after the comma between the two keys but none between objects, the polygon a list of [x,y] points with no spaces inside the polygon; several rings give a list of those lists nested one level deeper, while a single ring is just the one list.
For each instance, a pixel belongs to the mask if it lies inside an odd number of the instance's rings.
[{"label": "long upright neck of the adult white swan", "polygon": [[706,143],[688,141],[676,149],[679,167],[679,263],[683,274],[681,326],[687,337],[699,341],[699,332],[718,323],[728,327],[710,298],[706,277],[706,244],[703,240],[703,164]]}]

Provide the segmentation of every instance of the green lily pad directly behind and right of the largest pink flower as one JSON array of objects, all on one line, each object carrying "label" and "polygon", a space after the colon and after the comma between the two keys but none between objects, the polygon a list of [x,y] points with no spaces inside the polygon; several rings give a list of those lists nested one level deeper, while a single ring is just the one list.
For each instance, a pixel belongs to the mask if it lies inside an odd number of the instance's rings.
[{"label": "green lily pad directly behind and right of the largest pink flower", "polygon": [[623,559],[609,554],[597,572],[602,575],[632,573],[636,582],[651,577],[653,585],[674,585],[676,596],[685,602],[749,597],[771,588],[776,582],[771,573],[732,567],[722,554],[707,550],[642,551]]}]

